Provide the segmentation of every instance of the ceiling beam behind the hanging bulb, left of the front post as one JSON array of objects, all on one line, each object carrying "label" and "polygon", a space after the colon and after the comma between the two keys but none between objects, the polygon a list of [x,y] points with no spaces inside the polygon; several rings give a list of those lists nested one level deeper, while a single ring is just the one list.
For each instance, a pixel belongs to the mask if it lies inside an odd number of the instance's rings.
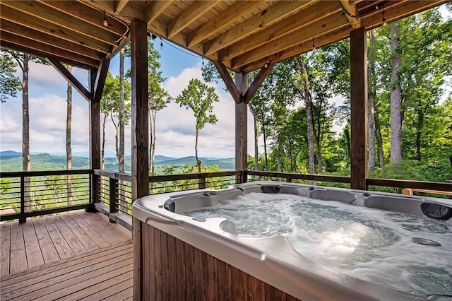
[{"label": "ceiling beam behind the hanging bulb, left of the front post", "polygon": [[110,33],[114,33],[119,36],[126,34],[129,30],[129,28],[124,23],[119,22],[119,20],[112,18],[108,14],[105,16],[105,18],[107,18],[108,26],[105,27],[103,24],[104,13],[99,9],[86,6],[84,4],[81,4],[80,2],[64,0],[40,0],[40,3],[50,8],[54,8],[61,13],[68,14],[73,18],[77,18],[78,20],[82,20],[83,22],[90,23],[97,28],[107,30]]}]

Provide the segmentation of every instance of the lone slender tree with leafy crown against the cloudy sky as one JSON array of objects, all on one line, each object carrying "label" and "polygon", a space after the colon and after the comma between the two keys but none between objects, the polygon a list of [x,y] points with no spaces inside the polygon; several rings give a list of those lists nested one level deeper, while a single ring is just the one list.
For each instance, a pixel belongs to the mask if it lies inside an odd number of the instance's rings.
[{"label": "lone slender tree with leafy crown against the cloudy sky", "polygon": [[189,85],[177,96],[176,102],[186,110],[192,110],[196,119],[195,126],[195,156],[198,172],[201,172],[201,160],[198,158],[198,134],[206,124],[216,124],[218,122],[213,112],[213,102],[218,102],[218,95],[213,87],[208,87],[198,79],[191,79]]}]

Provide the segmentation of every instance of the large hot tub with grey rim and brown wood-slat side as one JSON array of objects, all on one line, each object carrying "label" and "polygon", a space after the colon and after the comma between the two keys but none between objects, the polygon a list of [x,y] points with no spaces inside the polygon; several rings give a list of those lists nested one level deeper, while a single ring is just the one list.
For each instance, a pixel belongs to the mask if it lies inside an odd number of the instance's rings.
[{"label": "large hot tub with grey rim and brown wood-slat side", "polygon": [[281,182],[133,203],[142,300],[451,300],[452,203]]}]

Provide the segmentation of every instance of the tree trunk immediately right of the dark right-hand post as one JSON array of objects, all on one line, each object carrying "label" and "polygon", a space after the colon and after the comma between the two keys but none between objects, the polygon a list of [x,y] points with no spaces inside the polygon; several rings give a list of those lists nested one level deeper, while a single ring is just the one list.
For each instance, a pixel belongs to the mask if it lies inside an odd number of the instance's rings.
[{"label": "tree trunk immediately right of the dark right-hand post", "polygon": [[367,90],[367,139],[369,143],[369,158],[367,161],[367,168],[369,172],[375,171],[376,163],[376,148],[375,148],[375,111],[374,111],[374,96],[376,95],[375,87],[375,61],[374,61],[374,30],[369,30],[369,88]]}]

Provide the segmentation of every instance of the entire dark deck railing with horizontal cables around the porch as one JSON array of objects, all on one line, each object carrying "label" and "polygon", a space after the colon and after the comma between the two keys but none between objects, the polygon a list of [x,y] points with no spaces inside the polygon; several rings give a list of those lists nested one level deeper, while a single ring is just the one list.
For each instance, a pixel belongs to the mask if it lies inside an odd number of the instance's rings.
[{"label": "entire dark deck railing with horizontal cables around the porch", "polygon": [[[95,179],[95,180],[93,180]],[[149,194],[191,189],[222,189],[257,179],[350,188],[350,177],[287,172],[227,171],[149,177]],[[131,175],[107,170],[61,170],[0,173],[0,220],[20,222],[32,216],[96,208],[112,221],[131,229]],[[369,189],[428,189],[452,191],[451,182],[367,178]],[[92,187],[91,183],[95,183]],[[71,189],[69,188],[71,187]],[[92,197],[97,196],[97,197]],[[444,196],[447,197],[447,196]]]}]

